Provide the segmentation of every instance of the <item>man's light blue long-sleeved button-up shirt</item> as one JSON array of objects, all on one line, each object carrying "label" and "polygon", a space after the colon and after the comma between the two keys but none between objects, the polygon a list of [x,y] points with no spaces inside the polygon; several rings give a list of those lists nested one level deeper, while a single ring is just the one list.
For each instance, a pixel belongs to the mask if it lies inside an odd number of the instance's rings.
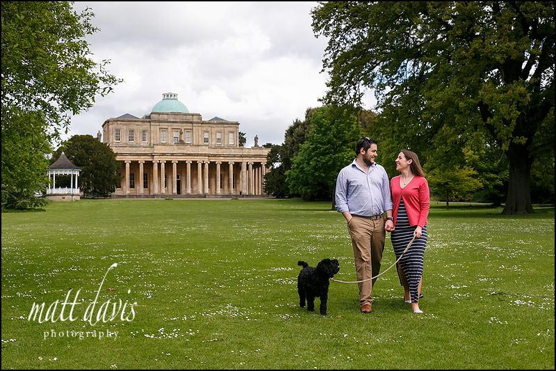
[{"label": "man's light blue long-sleeved button-up shirt", "polygon": [[388,174],[377,163],[366,173],[353,160],[338,174],[336,180],[336,210],[361,216],[381,215],[392,210]]}]

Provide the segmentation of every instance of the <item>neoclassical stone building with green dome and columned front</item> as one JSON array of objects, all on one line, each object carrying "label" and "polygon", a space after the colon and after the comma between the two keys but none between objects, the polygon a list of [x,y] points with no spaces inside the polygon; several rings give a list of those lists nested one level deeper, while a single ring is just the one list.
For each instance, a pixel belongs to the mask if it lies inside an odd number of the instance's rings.
[{"label": "neoclassical stone building with green dome and columned front", "polygon": [[122,161],[115,196],[263,194],[269,149],[256,140],[253,148],[240,146],[237,121],[202,120],[175,93],[164,93],[142,118],[126,113],[104,121],[102,138]]}]

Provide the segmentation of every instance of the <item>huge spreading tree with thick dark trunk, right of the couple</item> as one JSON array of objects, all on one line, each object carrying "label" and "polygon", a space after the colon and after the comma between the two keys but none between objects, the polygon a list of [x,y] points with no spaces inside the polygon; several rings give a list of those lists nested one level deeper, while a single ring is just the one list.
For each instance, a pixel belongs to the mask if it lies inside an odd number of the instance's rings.
[{"label": "huge spreading tree with thick dark trunk, right of the couple", "polygon": [[537,1],[320,4],[325,102],[357,106],[373,88],[400,143],[426,150],[440,136],[449,159],[489,137],[509,164],[503,212],[530,213],[532,163],[554,142],[537,138],[554,125],[554,16]]}]

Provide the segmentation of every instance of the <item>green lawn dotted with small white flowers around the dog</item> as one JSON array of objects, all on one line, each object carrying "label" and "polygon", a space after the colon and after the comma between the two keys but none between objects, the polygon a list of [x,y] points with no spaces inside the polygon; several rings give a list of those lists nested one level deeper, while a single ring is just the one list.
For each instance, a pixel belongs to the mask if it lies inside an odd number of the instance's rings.
[{"label": "green lawn dotted with small white flowers around the dog", "polygon": [[[423,315],[391,270],[373,290],[374,313],[359,313],[357,285],[331,283],[322,317],[298,306],[297,260],[337,258],[336,278],[355,279],[345,223],[329,206],[81,200],[3,213],[1,366],[554,369],[553,208],[433,207]],[[393,261],[387,240],[382,266]],[[92,326],[85,306],[113,262],[99,305],[136,302],[135,317]],[[28,321],[33,302],[46,310],[70,289],[83,300],[74,321]],[[51,330],[70,337],[45,339]],[[118,335],[71,337],[95,330]]]}]

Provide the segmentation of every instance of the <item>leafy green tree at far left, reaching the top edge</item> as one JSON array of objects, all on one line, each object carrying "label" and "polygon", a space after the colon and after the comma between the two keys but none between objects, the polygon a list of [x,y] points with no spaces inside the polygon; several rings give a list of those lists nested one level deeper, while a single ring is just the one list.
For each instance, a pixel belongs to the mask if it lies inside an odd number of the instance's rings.
[{"label": "leafy green tree at far left, reaching the top edge", "polygon": [[67,1],[1,3],[2,207],[44,188],[49,146],[67,133],[72,115],[121,81],[106,72],[107,61],[91,58],[85,38],[97,31],[93,16]]}]

